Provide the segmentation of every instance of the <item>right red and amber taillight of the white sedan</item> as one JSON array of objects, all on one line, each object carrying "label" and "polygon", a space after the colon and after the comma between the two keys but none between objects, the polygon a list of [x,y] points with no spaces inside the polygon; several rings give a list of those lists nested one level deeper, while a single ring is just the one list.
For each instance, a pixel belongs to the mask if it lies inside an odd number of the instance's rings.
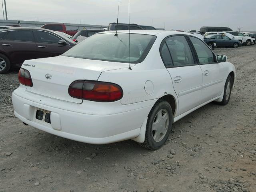
[{"label": "right red and amber taillight of the white sedan", "polygon": [[112,102],[123,96],[122,88],[114,83],[98,81],[74,81],[68,88],[70,96],[98,102]]}]

